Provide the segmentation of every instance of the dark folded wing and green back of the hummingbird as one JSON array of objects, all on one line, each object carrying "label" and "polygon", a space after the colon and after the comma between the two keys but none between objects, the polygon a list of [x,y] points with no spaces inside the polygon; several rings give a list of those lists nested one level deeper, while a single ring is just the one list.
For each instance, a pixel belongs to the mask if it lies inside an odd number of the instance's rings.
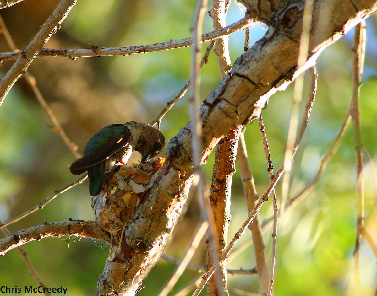
[{"label": "dark folded wing and green back of the hummingbird", "polygon": [[[112,124],[103,128],[90,138],[85,146],[84,156],[75,160],[70,165],[70,172],[74,175],[82,174],[88,168],[104,162],[116,153],[116,151],[129,145],[129,140],[130,131],[123,124]],[[91,151],[88,147],[93,146],[97,146],[98,148]]]}]

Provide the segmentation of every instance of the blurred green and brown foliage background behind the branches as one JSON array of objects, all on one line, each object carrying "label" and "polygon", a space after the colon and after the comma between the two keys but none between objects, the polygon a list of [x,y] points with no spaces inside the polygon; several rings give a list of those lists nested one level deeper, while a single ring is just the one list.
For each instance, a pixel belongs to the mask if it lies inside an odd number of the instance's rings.
[{"label": "blurred green and brown foliage background behind the branches", "polygon": [[[57,0],[40,3],[27,0],[1,11],[17,46],[22,50],[57,5]],[[100,1],[79,0],[62,28],[48,42],[50,48],[88,48],[88,43],[100,47],[150,44],[190,36],[194,0]],[[231,3],[227,23],[243,17],[244,8]],[[376,162],[377,134],[377,61],[375,53],[375,17],[367,20],[367,52],[361,114],[363,143]],[[204,31],[212,31],[207,16]],[[263,25],[250,27],[251,43],[267,31]],[[353,31],[352,31],[353,32]],[[320,159],[333,140],[351,98],[351,42],[349,32],[339,42],[329,46],[317,61],[318,92],[307,133],[294,162],[294,195],[316,172]],[[243,52],[243,31],[230,36],[230,54],[234,63]],[[205,49],[205,45],[203,48]],[[8,52],[0,36],[0,50]],[[43,96],[55,112],[69,137],[83,147],[89,137],[105,125],[115,122],[149,122],[180,90],[190,76],[191,48],[155,53],[100,58],[37,58],[29,72],[37,79]],[[220,81],[217,57],[211,53],[201,72],[202,99]],[[4,75],[12,62],[0,68]],[[275,168],[284,157],[292,87],[274,95],[264,110],[264,122]],[[305,98],[303,99],[305,101]],[[186,98],[164,117],[161,129],[166,139],[174,136],[189,121]],[[74,181],[68,165],[74,156],[67,150],[50,126],[49,119],[33,97],[24,79],[20,79],[0,108],[0,218],[7,221],[27,211],[66,184]],[[259,194],[268,185],[259,127],[256,122],[245,132],[250,165]],[[140,157],[137,155],[133,162]],[[213,158],[213,156],[212,156]],[[350,295],[352,294],[355,242],[356,198],[355,160],[352,127],[336,156],[330,161],[316,189],[291,210],[281,221],[277,238],[274,290],[276,295]],[[210,185],[213,159],[205,165]],[[365,208],[366,225],[376,238],[376,216],[373,212],[376,189],[371,165],[366,165]],[[280,198],[280,187],[277,187]],[[185,215],[176,227],[166,253],[180,258],[199,220],[195,198],[190,198]],[[230,238],[247,217],[245,198],[239,173],[233,177],[232,220]],[[260,211],[261,220],[272,214],[268,202]],[[60,195],[43,210],[9,226],[14,232],[44,221],[64,221],[69,218],[91,220],[87,183]],[[245,233],[240,244],[251,233]],[[267,256],[270,258],[271,233],[265,233]],[[48,238],[23,246],[38,273],[48,287],[68,288],[69,295],[92,295],[109,249],[100,241],[78,238]],[[192,263],[205,262],[202,242]],[[361,246],[360,296],[374,295],[376,290],[376,258],[369,246]],[[228,268],[251,269],[255,266],[252,246],[242,252]],[[15,250],[0,258],[0,285],[23,287],[36,284]],[[155,295],[169,279],[175,265],[160,259],[138,295]],[[197,274],[187,271],[176,289]],[[231,295],[242,291],[258,291],[256,275],[228,276]],[[204,295],[205,292],[203,291]],[[20,295],[20,293],[17,293]]]}]

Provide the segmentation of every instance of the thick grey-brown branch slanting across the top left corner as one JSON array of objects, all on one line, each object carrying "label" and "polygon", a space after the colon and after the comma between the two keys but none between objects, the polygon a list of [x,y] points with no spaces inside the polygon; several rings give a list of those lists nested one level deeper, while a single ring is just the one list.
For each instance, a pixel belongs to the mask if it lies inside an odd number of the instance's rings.
[{"label": "thick grey-brown branch slanting across the top left corner", "polygon": [[26,74],[29,65],[38,55],[44,44],[50,37],[57,32],[60,24],[67,17],[77,0],[61,0],[57,8],[52,12],[49,18],[41,26],[39,32],[35,35],[28,47],[22,52],[22,55],[15,61],[11,69],[0,80],[0,105],[3,103],[9,90],[20,78]]}]

